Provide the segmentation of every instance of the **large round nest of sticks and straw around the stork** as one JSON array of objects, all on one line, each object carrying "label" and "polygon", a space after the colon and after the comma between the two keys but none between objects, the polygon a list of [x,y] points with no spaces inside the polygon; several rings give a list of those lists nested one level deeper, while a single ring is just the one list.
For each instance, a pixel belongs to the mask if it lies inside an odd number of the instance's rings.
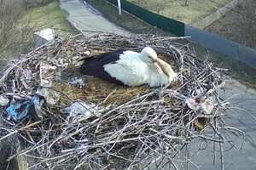
[{"label": "large round nest of sticks and straw around the stork", "polygon": [[[9,129],[2,133],[16,133],[25,147],[11,158],[26,156],[30,169],[178,168],[190,161],[182,150],[192,139],[223,143],[219,127],[226,106],[218,97],[223,69],[177,39],[182,38],[101,34],[49,43],[12,59],[1,78],[2,96],[12,104],[37,96],[41,105],[34,102],[31,116],[16,122],[6,112],[11,104],[2,107]],[[145,46],[172,65],[177,82],[120,87],[79,74],[79,59],[118,48],[139,52]],[[71,84],[74,77],[84,85]],[[82,111],[70,112],[67,106],[73,104]],[[42,119],[35,122],[38,116]]]}]

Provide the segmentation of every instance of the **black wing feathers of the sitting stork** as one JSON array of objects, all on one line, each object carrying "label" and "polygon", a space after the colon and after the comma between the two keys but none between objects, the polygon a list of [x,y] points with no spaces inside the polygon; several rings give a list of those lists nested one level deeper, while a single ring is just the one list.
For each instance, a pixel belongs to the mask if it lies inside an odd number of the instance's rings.
[{"label": "black wing feathers of the sitting stork", "polygon": [[104,70],[104,65],[109,63],[114,63],[119,60],[120,54],[126,51],[125,49],[119,49],[113,52],[108,52],[104,54],[98,54],[89,58],[85,58],[84,63],[80,67],[80,71],[84,75],[94,76],[102,78],[108,82],[114,82],[119,85],[124,85],[123,82],[117,80],[114,77],[111,77],[107,71]]}]

